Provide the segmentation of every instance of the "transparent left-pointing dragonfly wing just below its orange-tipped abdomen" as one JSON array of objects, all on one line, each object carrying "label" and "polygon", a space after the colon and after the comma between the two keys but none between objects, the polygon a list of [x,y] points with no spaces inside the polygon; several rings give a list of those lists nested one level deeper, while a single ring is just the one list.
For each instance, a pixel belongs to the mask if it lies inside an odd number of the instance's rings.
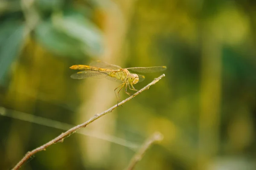
[{"label": "transparent left-pointing dragonfly wing just below its orange-tipped abdomen", "polygon": [[108,74],[106,72],[97,72],[97,71],[79,71],[75,74],[72,74],[70,77],[72,79],[85,79],[87,77],[92,77],[92,78],[105,78],[107,77]]}]

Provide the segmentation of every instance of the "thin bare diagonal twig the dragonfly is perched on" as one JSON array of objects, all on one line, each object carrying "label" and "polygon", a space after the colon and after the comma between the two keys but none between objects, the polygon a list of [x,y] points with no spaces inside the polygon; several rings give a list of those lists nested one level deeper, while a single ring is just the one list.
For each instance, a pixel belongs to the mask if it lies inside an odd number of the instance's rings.
[{"label": "thin bare diagonal twig the dragonfly is perched on", "polygon": [[52,139],[51,141],[47,142],[46,144],[44,144],[44,145],[42,145],[42,146],[40,146],[40,147],[30,151],[30,152],[27,152],[26,155],[15,165],[15,167],[12,170],[19,169],[31,156],[35,155],[35,153],[38,153],[38,152],[40,152],[42,150],[46,150],[47,147],[49,147],[50,145],[55,144],[57,142],[63,142],[64,138],[69,137],[70,135],[75,133],[77,130],[79,130],[81,127],[86,127],[91,122],[94,122],[96,119],[99,119],[100,117],[104,116],[105,114],[107,114],[109,112],[112,112],[119,105],[122,105],[125,102],[128,102],[129,100],[131,100],[132,98],[134,98],[135,96],[140,94],[141,92],[147,90],[151,85],[154,85],[155,83],[157,83],[162,77],[165,77],[165,74],[162,74],[160,77],[157,77],[151,83],[146,85],[144,88],[142,88],[139,91],[137,91],[134,95],[132,95],[132,96],[128,97],[127,99],[123,100],[122,102],[114,105],[113,107],[109,108],[108,110],[106,110],[106,111],[104,111],[102,113],[94,115],[92,118],[90,118],[86,122],[84,122],[84,123],[82,123],[80,125],[77,125],[77,126],[71,128],[70,130],[67,130],[64,133],[61,133],[61,135],[57,136],[55,139]]}]

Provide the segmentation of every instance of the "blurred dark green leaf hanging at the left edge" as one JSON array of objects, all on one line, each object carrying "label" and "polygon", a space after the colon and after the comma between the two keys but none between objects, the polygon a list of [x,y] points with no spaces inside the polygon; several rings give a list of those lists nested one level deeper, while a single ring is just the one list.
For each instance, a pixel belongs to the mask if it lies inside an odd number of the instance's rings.
[{"label": "blurred dark green leaf hanging at the left edge", "polygon": [[13,20],[0,25],[0,84],[20,51],[23,30],[24,26]]}]

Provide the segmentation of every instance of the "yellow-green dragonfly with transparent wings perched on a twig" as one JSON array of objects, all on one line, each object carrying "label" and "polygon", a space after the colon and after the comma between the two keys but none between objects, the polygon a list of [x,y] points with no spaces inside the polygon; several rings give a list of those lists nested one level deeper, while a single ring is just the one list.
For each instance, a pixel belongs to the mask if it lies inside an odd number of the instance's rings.
[{"label": "yellow-green dragonfly with transparent wings perched on a twig", "polygon": [[[121,68],[118,65],[109,64],[100,60],[91,62],[90,65],[72,65],[70,67],[70,69],[73,70],[84,70],[72,74],[71,78],[73,79],[85,79],[87,77],[92,77],[98,79],[106,78],[112,81],[121,82],[122,84],[114,90],[116,96],[116,90],[119,89],[117,92],[119,99],[119,92],[122,90],[122,88],[125,87],[125,93],[131,96],[132,94],[127,91],[127,88],[132,91],[137,91],[137,89],[134,88],[134,85],[138,82],[142,82],[145,79],[145,76],[134,74],[130,71],[135,71],[138,73],[154,73],[164,71],[166,68],[166,66]],[[117,96],[116,99],[118,101]]]}]

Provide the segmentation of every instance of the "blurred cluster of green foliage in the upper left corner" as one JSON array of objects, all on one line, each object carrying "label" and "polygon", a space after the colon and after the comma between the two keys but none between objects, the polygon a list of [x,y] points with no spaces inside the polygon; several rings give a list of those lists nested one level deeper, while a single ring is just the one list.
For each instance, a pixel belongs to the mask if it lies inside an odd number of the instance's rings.
[{"label": "blurred cluster of green foliage in the upper left corner", "polygon": [[[102,53],[102,33],[91,21],[90,11],[86,15],[76,6],[82,1],[71,3],[64,0],[3,1],[1,12],[1,74],[6,73],[17,52],[21,50],[21,42],[25,43],[24,26],[31,28],[31,35],[44,48],[58,56],[84,57]],[[19,11],[9,13],[9,6],[21,6]],[[88,8],[88,7],[87,7]],[[85,8],[86,9],[86,8]],[[91,10],[92,11],[92,10]],[[24,14],[24,15],[22,15]],[[39,16],[39,20],[37,17]],[[15,19],[12,19],[15,18]],[[21,28],[19,28],[21,27]],[[81,34],[83,33],[83,34]],[[17,44],[15,44],[15,43]],[[3,46],[6,45],[5,46]],[[14,54],[12,54],[14,53]],[[0,81],[3,79],[0,75]]]}]

